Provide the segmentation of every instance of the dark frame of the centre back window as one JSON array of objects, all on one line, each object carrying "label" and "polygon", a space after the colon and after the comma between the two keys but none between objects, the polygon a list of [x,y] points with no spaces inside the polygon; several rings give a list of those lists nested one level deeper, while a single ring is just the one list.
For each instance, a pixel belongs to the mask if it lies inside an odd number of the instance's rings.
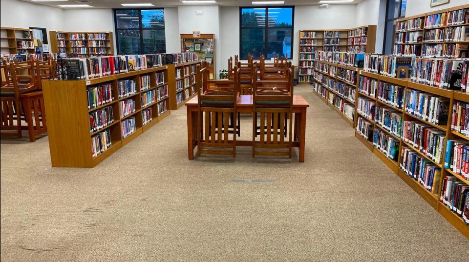
[{"label": "dark frame of the centre back window", "polygon": [[[269,26],[266,22],[264,27],[243,27],[243,8],[253,9],[253,8],[265,8],[265,17],[266,20],[269,19],[269,8],[292,8],[292,25],[291,26]],[[241,59],[241,33],[243,29],[264,29],[264,57],[267,59],[267,50],[269,43],[269,29],[291,29],[291,46],[290,46],[290,57],[287,59],[293,59],[293,37],[294,37],[294,28],[295,26],[295,6],[294,5],[262,5],[262,6],[240,6],[239,7],[239,58]],[[284,55],[284,54],[282,54]]]}]

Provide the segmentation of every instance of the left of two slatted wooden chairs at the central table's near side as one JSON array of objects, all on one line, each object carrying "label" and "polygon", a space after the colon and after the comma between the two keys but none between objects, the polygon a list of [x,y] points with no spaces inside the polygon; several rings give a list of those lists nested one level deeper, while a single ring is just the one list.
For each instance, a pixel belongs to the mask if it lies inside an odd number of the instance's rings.
[{"label": "left of two slatted wooden chairs at the central table's near side", "polygon": [[[207,68],[196,66],[196,85]],[[236,102],[239,94],[239,69],[234,68],[233,81],[205,81],[197,89],[197,155],[218,154],[236,156]],[[203,90],[206,90],[205,92]],[[230,120],[232,127],[230,128]],[[202,129],[204,132],[202,132]],[[231,132],[230,132],[231,129]],[[236,128],[237,129],[237,128]],[[230,138],[230,134],[231,138]]]}]

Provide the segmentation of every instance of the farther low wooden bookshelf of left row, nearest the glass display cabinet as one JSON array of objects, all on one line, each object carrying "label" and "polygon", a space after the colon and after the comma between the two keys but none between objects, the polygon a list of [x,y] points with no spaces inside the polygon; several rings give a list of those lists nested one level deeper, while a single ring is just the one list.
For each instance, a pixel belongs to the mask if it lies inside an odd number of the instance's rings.
[{"label": "farther low wooden bookshelf of left row, nearest the glass display cabinet", "polygon": [[[170,109],[176,110],[197,94],[195,89],[195,65],[201,60],[171,64],[168,79],[170,84]],[[180,77],[177,72],[180,71]],[[182,84],[181,84],[182,83]],[[178,88],[179,84],[179,88]],[[182,86],[181,86],[182,85]]]}]

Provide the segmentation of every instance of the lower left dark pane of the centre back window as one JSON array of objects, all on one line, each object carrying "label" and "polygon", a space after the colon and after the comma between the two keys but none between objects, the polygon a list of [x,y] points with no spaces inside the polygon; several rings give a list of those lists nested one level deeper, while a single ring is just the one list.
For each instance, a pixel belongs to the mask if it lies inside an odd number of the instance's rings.
[{"label": "lower left dark pane of the centre back window", "polygon": [[265,29],[242,29],[241,30],[241,59],[248,59],[248,54],[259,58],[264,54]]}]

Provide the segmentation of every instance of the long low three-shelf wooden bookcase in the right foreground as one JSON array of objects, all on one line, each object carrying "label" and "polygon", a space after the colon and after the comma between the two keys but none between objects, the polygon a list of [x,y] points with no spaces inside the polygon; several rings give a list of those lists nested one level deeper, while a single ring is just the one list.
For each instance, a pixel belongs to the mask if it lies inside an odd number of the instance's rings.
[{"label": "long low three-shelf wooden bookcase in the right foreground", "polygon": [[[468,224],[456,210],[448,207],[442,193],[446,177],[451,177],[461,185],[469,185],[461,170],[445,167],[447,141],[469,143],[466,133],[461,133],[452,121],[452,115],[469,104],[469,95],[362,70],[359,70],[357,90],[355,137],[469,238]],[[385,95],[390,93],[395,96],[390,98]],[[422,103],[427,99],[427,108],[430,108],[432,100],[435,110],[440,104],[448,106],[448,121],[439,123],[435,121],[438,115],[431,118],[431,115],[429,117],[427,113],[422,113],[426,112],[422,108],[420,111],[414,110],[412,103],[419,98]],[[384,121],[384,118],[390,121]],[[418,136],[412,133],[413,130],[426,134],[432,143],[418,140]],[[432,170],[432,179],[428,176],[422,178],[421,173],[416,176],[411,168],[414,161],[419,161],[425,164],[425,168]]]}]

